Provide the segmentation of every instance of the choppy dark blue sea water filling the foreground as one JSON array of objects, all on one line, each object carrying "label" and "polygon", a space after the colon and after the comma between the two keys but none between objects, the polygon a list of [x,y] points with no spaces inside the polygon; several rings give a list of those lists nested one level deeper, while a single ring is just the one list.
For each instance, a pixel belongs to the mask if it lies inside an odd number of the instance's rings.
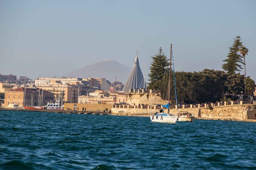
[{"label": "choppy dark blue sea water filling the foreground", "polygon": [[0,111],[1,169],[256,169],[256,123]]}]

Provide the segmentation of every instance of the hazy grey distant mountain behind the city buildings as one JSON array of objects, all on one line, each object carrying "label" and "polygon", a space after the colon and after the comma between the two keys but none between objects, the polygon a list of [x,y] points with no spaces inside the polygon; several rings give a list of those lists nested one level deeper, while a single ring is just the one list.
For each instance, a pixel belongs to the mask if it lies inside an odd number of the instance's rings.
[{"label": "hazy grey distant mountain behind the city buildings", "polygon": [[128,68],[117,61],[104,60],[67,73],[63,75],[63,77],[79,77],[83,79],[88,77],[105,78],[106,80],[115,82],[116,75],[118,77],[116,81],[125,84],[130,72],[131,68]]}]

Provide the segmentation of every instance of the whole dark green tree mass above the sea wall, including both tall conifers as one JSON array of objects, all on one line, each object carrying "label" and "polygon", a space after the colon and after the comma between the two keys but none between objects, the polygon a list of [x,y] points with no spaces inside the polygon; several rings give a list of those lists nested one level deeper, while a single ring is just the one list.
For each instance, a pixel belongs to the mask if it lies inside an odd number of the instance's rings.
[{"label": "whole dark green tree mass above the sea wall, including both tall conifers", "polygon": [[[248,49],[242,45],[241,38],[237,36],[233,45],[229,48],[228,56],[222,65],[224,71],[204,69],[199,72],[175,72],[176,89],[178,103],[205,103],[224,100],[224,94],[232,95],[232,99],[236,100],[233,94],[242,94],[246,88],[246,94],[252,95],[255,91],[255,82],[249,77],[245,79],[245,75],[236,73],[243,69],[240,65],[245,64],[243,57],[248,53]],[[241,54],[241,55],[240,55]],[[158,50],[152,58],[148,89],[158,90],[161,97],[166,100],[166,92],[169,81],[169,59],[163,53],[162,48]],[[245,66],[245,65],[244,65]],[[171,70],[173,72],[173,70]],[[174,78],[171,75],[171,103],[175,104]],[[245,82],[248,85],[245,86]]]}]

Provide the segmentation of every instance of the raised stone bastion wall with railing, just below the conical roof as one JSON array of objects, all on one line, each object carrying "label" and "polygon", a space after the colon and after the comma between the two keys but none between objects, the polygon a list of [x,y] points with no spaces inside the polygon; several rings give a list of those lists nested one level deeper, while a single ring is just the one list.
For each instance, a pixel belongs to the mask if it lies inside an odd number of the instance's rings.
[{"label": "raised stone bastion wall with railing, just below the conical roof", "polygon": [[167,104],[168,101],[162,100],[160,93],[128,93],[127,103],[130,105],[139,104]]}]

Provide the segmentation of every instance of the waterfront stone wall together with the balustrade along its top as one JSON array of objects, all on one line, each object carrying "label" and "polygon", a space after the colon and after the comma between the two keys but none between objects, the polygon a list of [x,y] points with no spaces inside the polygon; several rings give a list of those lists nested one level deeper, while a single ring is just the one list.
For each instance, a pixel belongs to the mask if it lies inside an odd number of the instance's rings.
[{"label": "waterfront stone wall together with the balustrade along its top", "polygon": [[[159,112],[161,105],[113,105],[112,114],[123,116],[150,116]],[[164,109],[166,112],[167,109]],[[214,120],[256,120],[256,101],[247,104],[246,101],[217,102],[210,104],[174,105],[170,113],[177,115],[179,111],[192,113],[198,119]]]}]

